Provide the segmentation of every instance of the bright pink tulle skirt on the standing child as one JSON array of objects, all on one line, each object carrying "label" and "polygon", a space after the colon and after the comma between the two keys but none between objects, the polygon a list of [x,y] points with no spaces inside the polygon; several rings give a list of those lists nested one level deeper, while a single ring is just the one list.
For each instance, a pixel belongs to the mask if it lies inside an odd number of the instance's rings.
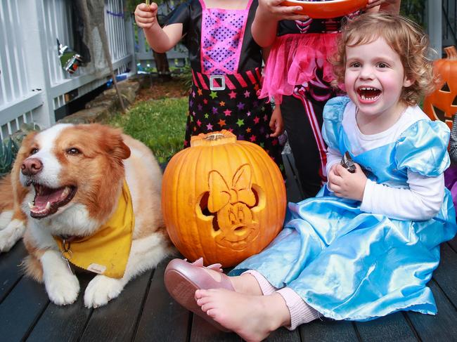
[{"label": "bright pink tulle skirt on the standing child", "polygon": [[260,98],[274,98],[281,103],[283,95],[292,95],[295,85],[316,79],[330,83],[335,79],[328,57],[336,52],[339,33],[285,34],[277,37],[266,62]]}]

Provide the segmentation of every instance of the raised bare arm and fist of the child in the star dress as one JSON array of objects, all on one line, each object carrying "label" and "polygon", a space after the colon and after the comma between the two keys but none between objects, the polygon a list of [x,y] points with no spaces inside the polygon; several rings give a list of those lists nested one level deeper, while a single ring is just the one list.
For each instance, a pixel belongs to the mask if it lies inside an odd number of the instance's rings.
[{"label": "raised bare arm and fist of the child in the star dress", "polygon": [[160,27],[157,22],[157,4],[139,4],[135,10],[136,25],[143,29],[146,41],[154,51],[164,53],[175,46],[183,35],[182,24]]}]

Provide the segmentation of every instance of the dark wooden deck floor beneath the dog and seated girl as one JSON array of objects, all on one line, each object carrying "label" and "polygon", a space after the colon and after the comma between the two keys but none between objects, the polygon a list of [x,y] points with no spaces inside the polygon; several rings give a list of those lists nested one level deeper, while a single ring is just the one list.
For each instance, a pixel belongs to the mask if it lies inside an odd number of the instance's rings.
[{"label": "dark wooden deck floor beneath the dog and seated girl", "polygon": [[[285,158],[288,197],[300,199],[293,161]],[[295,331],[278,329],[267,341],[457,341],[457,239],[441,246],[442,262],[429,285],[438,315],[395,313],[371,322],[316,320]],[[241,341],[214,329],[174,302],[163,284],[166,262],[137,277],[102,308],[84,308],[91,275],[79,277],[76,303],[49,302],[44,286],[22,276],[22,242],[0,255],[0,341]]]}]

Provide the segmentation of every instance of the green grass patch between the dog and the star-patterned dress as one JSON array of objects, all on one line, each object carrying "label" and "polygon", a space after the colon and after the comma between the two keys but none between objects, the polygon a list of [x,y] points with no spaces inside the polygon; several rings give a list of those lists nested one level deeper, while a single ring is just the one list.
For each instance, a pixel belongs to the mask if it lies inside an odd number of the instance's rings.
[{"label": "green grass patch between the dog and the star-patterned dress", "polygon": [[183,148],[187,113],[187,97],[164,98],[139,102],[127,114],[115,114],[105,123],[143,142],[163,163]]}]

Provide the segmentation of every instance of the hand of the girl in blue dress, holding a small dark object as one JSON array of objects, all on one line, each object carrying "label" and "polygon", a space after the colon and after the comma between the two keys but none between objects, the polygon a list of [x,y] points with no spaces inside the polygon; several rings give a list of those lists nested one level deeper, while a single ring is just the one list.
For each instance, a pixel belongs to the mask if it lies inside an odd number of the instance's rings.
[{"label": "hand of the girl in blue dress, holding a small dark object", "polygon": [[337,197],[345,197],[361,201],[365,191],[366,176],[359,164],[354,163],[356,171],[350,173],[340,164],[335,164],[328,171],[328,188]]}]

